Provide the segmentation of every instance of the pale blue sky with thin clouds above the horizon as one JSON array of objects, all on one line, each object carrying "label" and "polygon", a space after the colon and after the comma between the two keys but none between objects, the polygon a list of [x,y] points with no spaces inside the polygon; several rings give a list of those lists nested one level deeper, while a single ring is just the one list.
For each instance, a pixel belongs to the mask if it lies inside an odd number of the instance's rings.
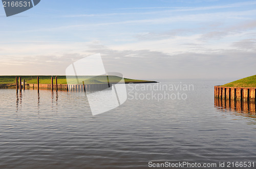
[{"label": "pale blue sky with thin clouds above the horizon", "polygon": [[41,0],[0,20],[1,75],[65,75],[96,53],[128,78],[256,74],[256,1]]}]

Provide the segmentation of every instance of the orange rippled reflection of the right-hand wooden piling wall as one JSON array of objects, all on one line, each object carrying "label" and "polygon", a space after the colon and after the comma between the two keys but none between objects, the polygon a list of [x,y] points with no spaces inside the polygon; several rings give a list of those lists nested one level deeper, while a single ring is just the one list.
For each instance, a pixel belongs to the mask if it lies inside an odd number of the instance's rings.
[{"label": "orange rippled reflection of the right-hand wooden piling wall", "polygon": [[254,101],[215,98],[215,107],[220,111],[236,112],[238,115],[256,118]]}]

